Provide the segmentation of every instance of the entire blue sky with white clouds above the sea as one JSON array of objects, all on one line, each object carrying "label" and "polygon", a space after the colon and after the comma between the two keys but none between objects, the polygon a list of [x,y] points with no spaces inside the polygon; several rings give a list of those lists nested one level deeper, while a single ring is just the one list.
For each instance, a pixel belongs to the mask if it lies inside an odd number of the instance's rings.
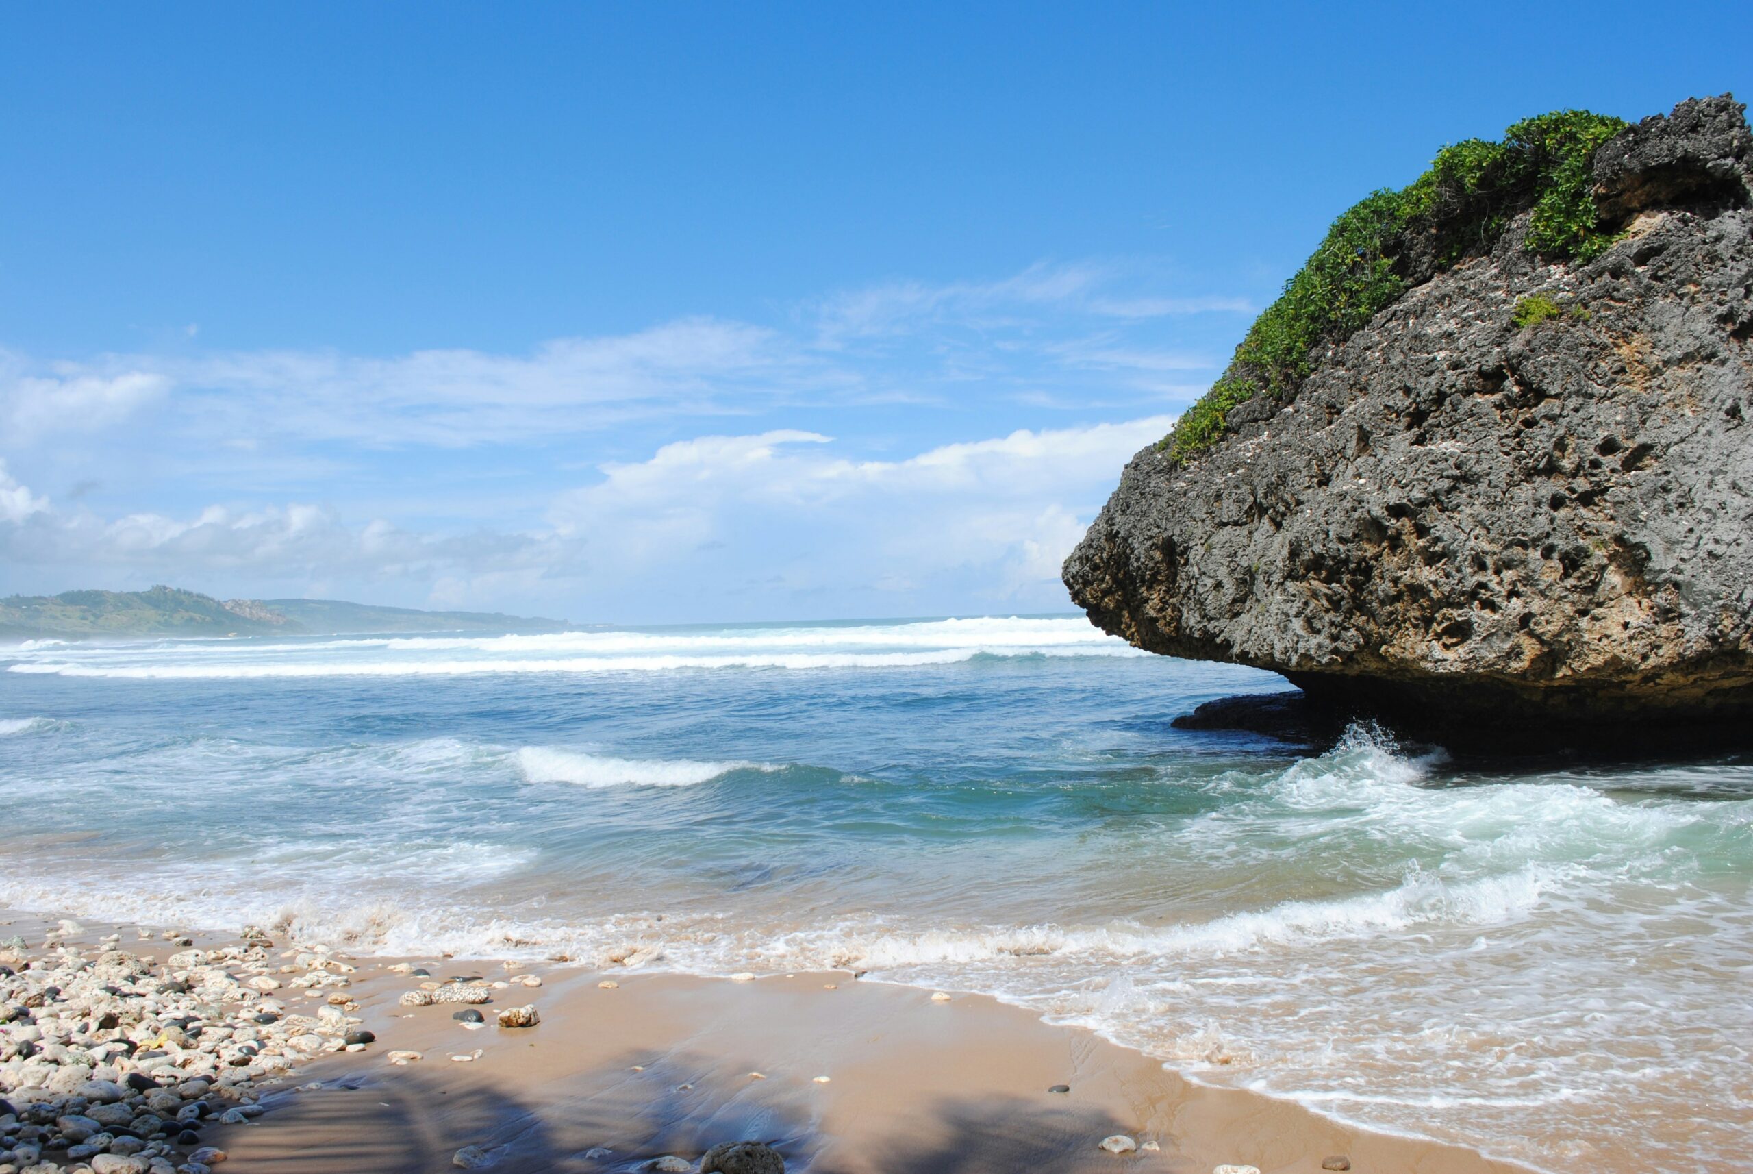
[{"label": "entire blue sky with white clouds above the sea", "polygon": [[1746,9],[0,7],[0,594],[1069,612],[1345,207]]}]

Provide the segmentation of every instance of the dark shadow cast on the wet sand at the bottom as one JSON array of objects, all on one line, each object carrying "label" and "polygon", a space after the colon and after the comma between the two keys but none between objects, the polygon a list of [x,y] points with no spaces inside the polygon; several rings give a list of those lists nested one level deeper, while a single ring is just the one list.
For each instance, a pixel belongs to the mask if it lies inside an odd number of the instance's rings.
[{"label": "dark shadow cast on the wet sand at the bottom", "polygon": [[1111,1163],[1096,1142],[1125,1132],[1099,1109],[990,1097],[947,1102],[892,1137],[824,1146],[806,1088],[727,1079],[726,1067],[687,1051],[626,1055],[549,1085],[519,1081],[524,1097],[487,1072],[382,1069],[277,1093],[259,1123],[212,1141],[237,1174],[438,1174],[459,1169],[463,1146],[494,1174],[631,1174],[663,1156],[692,1169],[743,1139],[775,1146],[792,1174],[1071,1174]]}]

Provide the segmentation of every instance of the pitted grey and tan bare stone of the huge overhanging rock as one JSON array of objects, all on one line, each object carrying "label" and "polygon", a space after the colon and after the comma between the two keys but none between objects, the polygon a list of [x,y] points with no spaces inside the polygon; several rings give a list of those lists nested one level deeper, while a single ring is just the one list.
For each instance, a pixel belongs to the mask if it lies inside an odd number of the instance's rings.
[{"label": "pitted grey and tan bare stone of the huge overhanging rock", "polygon": [[[1753,717],[1753,135],[1732,98],[1597,152],[1586,265],[1515,224],[1066,561],[1141,648],[1436,724]],[[1562,314],[1518,328],[1546,294]]]}]

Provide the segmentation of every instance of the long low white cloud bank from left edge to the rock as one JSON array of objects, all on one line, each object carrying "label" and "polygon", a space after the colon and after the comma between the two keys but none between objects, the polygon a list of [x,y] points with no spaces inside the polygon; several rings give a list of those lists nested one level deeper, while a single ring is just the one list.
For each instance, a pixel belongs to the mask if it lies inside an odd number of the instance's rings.
[{"label": "long low white cloud bank from left edge to the rock", "polygon": [[515,533],[351,524],[309,503],[102,517],[51,506],[0,466],[0,555],[240,592],[396,580],[445,606],[510,596],[573,615],[713,617],[738,596],[778,613],[820,594],[1062,606],[1059,562],[1125,459],[1171,422],[1018,429],[905,459],[859,459],[803,429],[699,436],[601,466],[552,501],[545,527]]}]

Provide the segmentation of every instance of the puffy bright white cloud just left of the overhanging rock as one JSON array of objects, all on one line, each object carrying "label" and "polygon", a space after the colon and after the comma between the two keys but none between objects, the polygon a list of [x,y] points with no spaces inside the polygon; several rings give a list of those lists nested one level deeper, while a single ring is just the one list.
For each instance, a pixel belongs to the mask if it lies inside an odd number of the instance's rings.
[{"label": "puffy bright white cloud just left of the overhanging rock", "polygon": [[556,501],[598,571],[659,582],[678,564],[789,591],[917,589],[968,573],[989,596],[1059,599],[1069,554],[1120,468],[1173,417],[1029,431],[901,461],[840,456],[819,433],[701,436],[603,466]]}]

